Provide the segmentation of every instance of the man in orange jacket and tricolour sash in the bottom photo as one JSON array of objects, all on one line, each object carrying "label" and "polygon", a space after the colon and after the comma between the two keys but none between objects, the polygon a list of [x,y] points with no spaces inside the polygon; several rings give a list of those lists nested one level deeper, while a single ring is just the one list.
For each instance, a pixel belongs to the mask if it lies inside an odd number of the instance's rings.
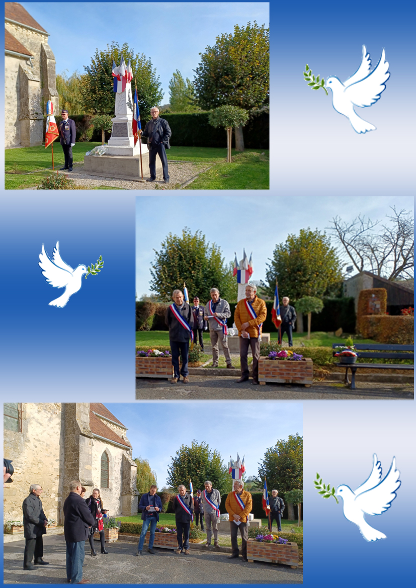
[{"label": "man in orange jacket and tricolour sash in the bottom photo", "polygon": [[241,533],[241,555],[243,562],[247,562],[247,520],[252,509],[252,497],[247,490],[244,490],[242,480],[234,480],[234,490],[229,493],[225,500],[225,508],[229,514],[229,527],[231,530],[232,554],[229,559],[239,556],[237,534]]}]

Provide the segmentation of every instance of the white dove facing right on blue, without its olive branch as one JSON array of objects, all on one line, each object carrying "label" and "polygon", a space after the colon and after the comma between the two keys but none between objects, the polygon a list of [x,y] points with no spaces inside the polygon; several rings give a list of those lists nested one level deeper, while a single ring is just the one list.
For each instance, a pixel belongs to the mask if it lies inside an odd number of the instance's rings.
[{"label": "white dove facing right on blue, without its olive branch", "polygon": [[42,268],[42,275],[45,276],[46,282],[54,288],[65,288],[65,292],[59,298],[49,302],[49,306],[58,306],[62,308],[69,300],[69,296],[78,292],[82,284],[82,276],[87,273],[85,265],[79,265],[78,268],[72,269],[59,255],[59,241],[52,252],[52,259],[49,259],[42,244],[42,252],[39,253],[39,266]]}]

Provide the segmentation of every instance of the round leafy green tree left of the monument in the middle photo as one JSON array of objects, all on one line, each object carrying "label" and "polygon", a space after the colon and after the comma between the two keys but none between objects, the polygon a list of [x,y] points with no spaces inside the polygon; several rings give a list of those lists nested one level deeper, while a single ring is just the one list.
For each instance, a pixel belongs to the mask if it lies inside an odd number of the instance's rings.
[{"label": "round leafy green tree left of the monument in the middle photo", "polygon": [[181,236],[169,233],[161,243],[161,249],[154,251],[150,286],[162,299],[170,300],[172,292],[176,288],[182,289],[184,282],[191,300],[198,296],[202,303],[206,303],[211,298],[211,288],[218,288],[222,298],[237,298],[231,263],[225,264],[219,246],[207,242],[200,230],[192,235],[185,227]]}]

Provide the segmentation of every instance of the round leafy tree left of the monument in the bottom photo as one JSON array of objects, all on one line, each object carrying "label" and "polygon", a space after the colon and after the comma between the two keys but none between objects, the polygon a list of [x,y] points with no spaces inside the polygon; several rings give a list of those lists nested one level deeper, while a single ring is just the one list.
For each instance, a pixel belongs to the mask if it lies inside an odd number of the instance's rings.
[{"label": "round leafy tree left of the monument in the bottom photo", "polygon": [[209,449],[205,441],[198,443],[194,439],[190,446],[181,445],[171,460],[167,482],[172,487],[183,484],[189,489],[190,479],[196,492],[197,488],[204,489],[204,482],[210,480],[221,495],[231,491],[228,466],[222,462],[217,449]]}]

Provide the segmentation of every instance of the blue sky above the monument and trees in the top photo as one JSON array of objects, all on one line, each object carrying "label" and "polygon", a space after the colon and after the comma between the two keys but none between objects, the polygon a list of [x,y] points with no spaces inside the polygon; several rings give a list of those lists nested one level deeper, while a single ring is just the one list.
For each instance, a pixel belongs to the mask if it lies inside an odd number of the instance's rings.
[{"label": "blue sky above the monument and trees in the top photo", "polygon": [[[176,69],[193,79],[199,52],[215,44],[215,38],[234,31],[234,25],[257,21],[269,24],[268,2],[22,2],[22,6],[51,35],[49,45],[56,58],[56,73],[65,69],[84,74],[95,49],[128,43],[135,54],[144,53],[160,76],[169,102],[169,81]],[[197,18],[196,18],[197,16]],[[62,19],[68,18],[65,35]],[[69,24],[70,23],[70,24]],[[155,29],[154,29],[155,26]]]}]

